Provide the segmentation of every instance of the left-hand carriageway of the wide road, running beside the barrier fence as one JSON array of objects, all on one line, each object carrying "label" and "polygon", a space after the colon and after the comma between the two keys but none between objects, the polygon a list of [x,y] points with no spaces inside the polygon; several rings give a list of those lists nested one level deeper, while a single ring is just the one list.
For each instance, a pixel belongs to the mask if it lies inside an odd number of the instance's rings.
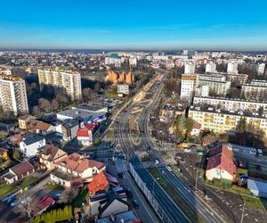
[{"label": "left-hand carriageway of the wide road, running beside the barrier fence", "polygon": [[[142,181],[146,183],[147,188],[151,194],[154,194],[156,201],[158,202],[158,209],[164,222],[190,222],[181,209],[174,203],[173,199],[166,194],[165,190],[158,185],[158,182],[153,178],[149,171],[142,166],[142,162],[137,158],[134,153],[136,147],[131,141],[129,134],[129,118],[136,104],[132,103],[125,112],[123,112],[117,119],[116,137],[117,143],[124,151],[126,159],[130,162],[135,171],[142,178]],[[153,206],[153,204],[151,204]]]}]

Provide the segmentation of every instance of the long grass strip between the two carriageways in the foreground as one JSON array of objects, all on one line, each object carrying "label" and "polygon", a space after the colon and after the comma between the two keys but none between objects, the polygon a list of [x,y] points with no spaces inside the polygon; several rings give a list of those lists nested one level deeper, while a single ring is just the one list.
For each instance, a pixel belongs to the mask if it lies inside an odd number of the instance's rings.
[{"label": "long grass strip between the two carriageways in the foreground", "polygon": [[165,189],[166,193],[169,194],[169,196],[174,200],[177,206],[182,210],[183,213],[185,213],[185,215],[190,219],[191,222],[203,222],[202,219],[198,217],[198,214],[190,208],[188,203],[185,202],[182,197],[176,193],[174,187],[166,181],[166,179],[161,175],[158,169],[150,168],[148,170],[154,178],[158,178],[159,185]]}]

